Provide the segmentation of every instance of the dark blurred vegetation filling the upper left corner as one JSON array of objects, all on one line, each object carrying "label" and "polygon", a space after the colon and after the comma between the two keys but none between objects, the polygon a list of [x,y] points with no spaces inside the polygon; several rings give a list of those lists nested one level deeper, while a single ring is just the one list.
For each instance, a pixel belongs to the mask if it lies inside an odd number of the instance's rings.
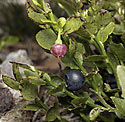
[{"label": "dark blurred vegetation filling the upper left corner", "polygon": [[1,0],[0,18],[2,36],[17,36],[24,41],[34,37],[38,30],[37,25],[27,17],[25,1],[22,0]]}]

